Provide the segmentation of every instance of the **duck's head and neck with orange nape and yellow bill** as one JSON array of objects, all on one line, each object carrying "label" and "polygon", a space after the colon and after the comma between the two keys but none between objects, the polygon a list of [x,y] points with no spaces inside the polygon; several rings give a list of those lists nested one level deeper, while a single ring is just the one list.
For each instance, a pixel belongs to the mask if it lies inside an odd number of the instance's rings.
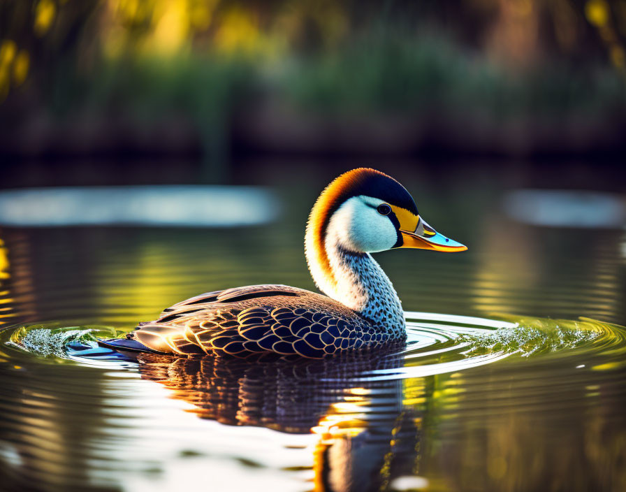
[{"label": "duck's head and neck with orange nape and yellow bill", "polygon": [[391,282],[369,255],[395,248],[467,249],[435,231],[405,187],[380,171],[348,171],[322,191],[305,236],[307,263],[321,291],[355,310],[365,309],[373,294],[399,306]]}]

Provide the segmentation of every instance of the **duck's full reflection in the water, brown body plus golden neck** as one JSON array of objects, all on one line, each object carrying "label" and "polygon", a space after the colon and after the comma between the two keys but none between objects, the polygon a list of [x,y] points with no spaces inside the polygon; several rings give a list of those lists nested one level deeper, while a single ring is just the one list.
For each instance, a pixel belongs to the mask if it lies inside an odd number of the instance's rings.
[{"label": "duck's full reflection in the water, brown body plus golden neck", "polygon": [[403,405],[401,379],[377,375],[404,366],[397,349],[322,360],[139,354],[138,363],[203,419],[319,435],[316,490],[379,491],[418,472],[421,418]]}]

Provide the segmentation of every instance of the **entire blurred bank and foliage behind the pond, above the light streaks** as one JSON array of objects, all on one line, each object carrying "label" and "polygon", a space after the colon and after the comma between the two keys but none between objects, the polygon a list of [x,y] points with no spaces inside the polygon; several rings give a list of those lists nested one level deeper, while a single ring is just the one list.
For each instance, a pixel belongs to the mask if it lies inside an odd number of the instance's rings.
[{"label": "entire blurred bank and foliage behind the pond, above the light streaks", "polygon": [[1,185],[313,157],[623,191],[625,40],[624,0],[3,0]]}]

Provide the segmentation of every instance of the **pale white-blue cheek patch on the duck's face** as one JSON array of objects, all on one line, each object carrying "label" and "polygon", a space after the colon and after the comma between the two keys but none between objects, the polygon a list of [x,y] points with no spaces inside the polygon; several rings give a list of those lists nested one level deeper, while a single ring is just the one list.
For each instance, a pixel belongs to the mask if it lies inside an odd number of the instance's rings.
[{"label": "pale white-blue cheek patch on the duck's face", "polygon": [[[365,200],[372,203],[368,205]],[[391,219],[376,210],[380,203],[383,202],[359,196],[347,200],[330,217],[327,240],[334,240],[345,249],[361,253],[391,249],[398,240],[398,233]]]}]

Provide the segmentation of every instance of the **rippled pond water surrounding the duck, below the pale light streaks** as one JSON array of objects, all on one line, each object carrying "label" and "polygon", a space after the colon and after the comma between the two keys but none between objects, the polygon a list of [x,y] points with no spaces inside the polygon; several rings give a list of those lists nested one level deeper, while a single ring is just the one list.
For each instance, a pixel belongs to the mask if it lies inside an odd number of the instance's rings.
[{"label": "rippled pond water surrounding the duck, below the pale light streaks", "polygon": [[407,347],[90,352],[203,291],[314,289],[303,230],[327,178],[275,179],[282,213],[265,226],[0,229],[0,488],[626,490],[625,232],[512,218],[480,180],[404,183],[469,247],[377,255]]}]

